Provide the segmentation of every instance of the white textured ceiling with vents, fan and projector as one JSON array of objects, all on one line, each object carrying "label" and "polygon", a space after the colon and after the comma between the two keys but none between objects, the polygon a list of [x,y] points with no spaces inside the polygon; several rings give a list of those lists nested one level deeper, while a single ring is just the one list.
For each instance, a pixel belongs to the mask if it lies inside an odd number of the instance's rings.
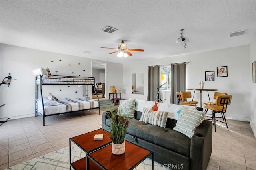
[{"label": "white textured ceiling with vents, fan and projector", "polygon": [[[1,43],[111,61],[132,62],[247,45],[256,1],[0,1]],[[118,29],[109,34],[106,26]],[[176,43],[189,38],[187,48]],[[228,33],[248,29],[243,36]],[[108,54],[120,39],[132,57]],[[87,54],[84,51],[94,53]]]}]

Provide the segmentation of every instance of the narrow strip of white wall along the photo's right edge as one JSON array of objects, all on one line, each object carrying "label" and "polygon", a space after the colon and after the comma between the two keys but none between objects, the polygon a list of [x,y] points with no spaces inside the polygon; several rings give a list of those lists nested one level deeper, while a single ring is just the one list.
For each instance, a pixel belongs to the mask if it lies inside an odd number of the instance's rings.
[{"label": "narrow strip of white wall along the photo's right edge", "polygon": [[[252,62],[256,61],[256,40],[254,38],[252,39],[252,42],[250,43],[250,69],[252,70]],[[250,77],[252,77],[252,71],[250,73]],[[254,136],[256,138],[256,83],[252,82],[252,78],[250,81],[250,101],[251,101],[251,107],[250,107],[250,125],[252,128],[252,131],[254,133]]]}]

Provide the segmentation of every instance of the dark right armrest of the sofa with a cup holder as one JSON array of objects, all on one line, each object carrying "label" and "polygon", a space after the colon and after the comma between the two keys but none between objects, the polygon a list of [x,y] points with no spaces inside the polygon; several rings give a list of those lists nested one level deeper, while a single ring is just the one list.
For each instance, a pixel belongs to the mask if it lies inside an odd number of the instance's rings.
[{"label": "dark right armrest of the sofa with a cup holder", "polygon": [[190,169],[206,170],[212,154],[212,122],[204,120],[196,129],[190,144]]}]

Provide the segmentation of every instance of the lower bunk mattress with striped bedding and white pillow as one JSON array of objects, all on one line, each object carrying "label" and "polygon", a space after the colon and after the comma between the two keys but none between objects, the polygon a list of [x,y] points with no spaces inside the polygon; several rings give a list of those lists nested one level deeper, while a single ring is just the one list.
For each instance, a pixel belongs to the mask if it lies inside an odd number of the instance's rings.
[{"label": "lower bunk mattress with striped bedding and white pillow", "polygon": [[[60,100],[59,103],[59,105],[55,106],[44,106],[45,115],[65,113],[71,111],[80,111],[84,109],[93,109],[99,107],[98,101],[83,101],[81,98]],[[43,114],[42,102],[38,103],[38,112]]]}]

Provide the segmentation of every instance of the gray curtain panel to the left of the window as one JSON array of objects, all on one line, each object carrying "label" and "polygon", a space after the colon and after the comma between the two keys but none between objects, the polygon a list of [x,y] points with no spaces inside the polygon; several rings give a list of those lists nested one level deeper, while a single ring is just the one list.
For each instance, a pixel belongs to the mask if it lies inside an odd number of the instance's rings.
[{"label": "gray curtain panel to the left of the window", "polygon": [[[148,101],[155,101],[161,81],[161,66],[148,66]],[[159,99],[159,95],[157,96]]]}]

